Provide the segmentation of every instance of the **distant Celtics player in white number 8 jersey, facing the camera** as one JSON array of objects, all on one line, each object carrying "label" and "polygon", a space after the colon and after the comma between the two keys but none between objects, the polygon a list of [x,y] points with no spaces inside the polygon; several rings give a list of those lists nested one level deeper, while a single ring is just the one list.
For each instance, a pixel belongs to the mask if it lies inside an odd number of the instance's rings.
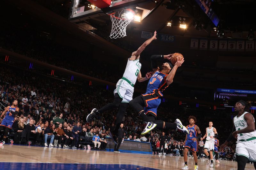
[{"label": "distant Celtics player in white number 8 jersey, facing the camera", "polygon": [[[211,164],[210,167],[213,167],[213,150],[214,150],[214,140],[215,137],[218,137],[218,133],[216,128],[212,127],[213,123],[210,121],[209,122],[209,127],[206,128],[206,133],[203,137],[203,139],[206,137],[206,141],[204,144],[204,153],[208,157],[208,164],[210,163],[211,159]],[[210,150],[210,154],[208,153],[208,149]]]}]

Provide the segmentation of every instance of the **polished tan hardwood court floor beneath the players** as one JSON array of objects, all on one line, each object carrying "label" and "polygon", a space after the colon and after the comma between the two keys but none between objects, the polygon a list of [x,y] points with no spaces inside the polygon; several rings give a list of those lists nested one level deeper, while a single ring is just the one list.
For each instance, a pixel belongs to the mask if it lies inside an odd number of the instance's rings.
[{"label": "polished tan hardwood court floor beneath the players", "polygon": [[[8,163],[13,162],[13,163]],[[183,157],[170,157],[162,155],[147,155],[147,154],[134,154],[134,153],[114,153],[93,150],[73,150],[62,148],[48,148],[48,147],[35,147],[35,146],[21,146],[21,145],[8,145],[0,146],[0,169],[8,164],[9,169],[24,169],[20,167],[23,163],[37,163],[33,164],[34,168],[48,169],[48,166],[41,166],[42,163],[69,163],[73,168],[68,169],[181,169],[184,164]],[[39,164],[41,163],[41,164]],[[47,165],[48,165],[47,164]],[[74,165],[75,164],[75,165]],[[102,168],[91,167],[88,165],[105,164]],[[109,166],[106,164],[109,164]],[[125,164],[129,166],[116,166]],[[39,166],[40,165],[40,166]],[[54,164],[56,165],[56,164]],[[78,168],[76,165],[83,165]],[[85,165],[85,166],[84,166]],[[111,166],[110,165],[115,165]],[[132,167],[131,165],[138,165]],[[32,166],[32,165],[31,165]],[[38,166],[38,167],[36,167]],[[220,170],[235,170],[237,163],[234,161],[220,160],[220,164],[215,164],[213,168],[209,168],[207,159],[199,159],[198,166],[200,170],[220,169]],[[44,167],[44,168],[42,168]],[[146,168],[148,167],[148,168]],[[188,167],[190,170],[194,169],[194,159],[188,158]],[[52,169],[67,169],[67,166],[55,166]],[[49,168],[49,169],[51,169]],[[6,167],[4,168],[6,169]],[[26,168],[25,168],[26,169]],[[247,164],[246,170],[254,170],[253,164]]]}]

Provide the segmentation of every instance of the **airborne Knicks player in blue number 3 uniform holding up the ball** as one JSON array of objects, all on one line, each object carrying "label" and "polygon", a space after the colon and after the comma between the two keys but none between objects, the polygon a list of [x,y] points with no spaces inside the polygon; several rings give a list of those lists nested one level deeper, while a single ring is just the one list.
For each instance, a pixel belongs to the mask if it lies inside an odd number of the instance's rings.
[{"label": "airborne Knicks player in blue number 3 uniform holding up the ball", "polygon": [[[143,121],[147,122],[145,129],[141,135],[145,135],[155,127],[158,129],[180,129],[188,134],[188,129],[182,125],[179,119],[175,123],[156,121],[157,107],[163,98],[162,92],[173,81],[173,77],[178,67],[184,62],[184,58],[178,58],[174,66],[169,62],[172,54],[169,55],[152,55],[151,66],[154,74],[148,81],[148,86],[145,94],[142,94],[129,102],[136,112],[140,115]],[[157,66],[158,60],[167,59],[168,62],[162,64],[161,69]]]}]

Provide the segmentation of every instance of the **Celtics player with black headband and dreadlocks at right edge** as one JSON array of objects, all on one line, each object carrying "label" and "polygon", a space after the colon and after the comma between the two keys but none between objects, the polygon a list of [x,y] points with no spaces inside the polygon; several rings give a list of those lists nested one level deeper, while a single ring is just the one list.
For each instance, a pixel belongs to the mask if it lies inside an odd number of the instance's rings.
[{"label": "Celtics player with black headband and dreadlocks at right edge", "polygon": [[229,141],[237,138],[236,142],[236,160],[237,170],[244,170],[248,160],[253,162],[256,169],[256,131],[255,120],[249,113],[251,104],[244,100],[239,100],[235,104],[237,115],[233,118],[233,129],[220,149],[225,148]]}]

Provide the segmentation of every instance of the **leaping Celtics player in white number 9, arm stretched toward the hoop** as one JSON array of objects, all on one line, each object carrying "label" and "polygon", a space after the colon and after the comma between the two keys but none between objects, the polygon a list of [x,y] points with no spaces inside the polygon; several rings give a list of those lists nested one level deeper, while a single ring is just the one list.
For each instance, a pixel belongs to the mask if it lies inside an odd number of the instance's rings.
[{"label": "leaping Celtics player in white number 9, arm stretched toward the hoop", "polygon": [[132,100],[133,95],[133,86],[136,83],[136,80],[143,82],[151,78],[153,72],[149,72],[145,77],[141,77],[140,69],[140,53],[148,46],[153,40],[156,40],[156,31],[150,39],[145,41],[137,51],[132,53],[132,56],[128,59],[127,65],[123,74],[123,77],[117,82],[116,89],[114,90],[114,102],[105,105],[104,107],[97,110],[96,108],[92,109],[92,112],[87,115],[86,121],[91,122],[93,118],[104,111],[109,109],[118,108],[118,113],[116,115],[116,129],[119,128],[120,123],[124,117],[126,108],[128,107],[129,101]]}]

